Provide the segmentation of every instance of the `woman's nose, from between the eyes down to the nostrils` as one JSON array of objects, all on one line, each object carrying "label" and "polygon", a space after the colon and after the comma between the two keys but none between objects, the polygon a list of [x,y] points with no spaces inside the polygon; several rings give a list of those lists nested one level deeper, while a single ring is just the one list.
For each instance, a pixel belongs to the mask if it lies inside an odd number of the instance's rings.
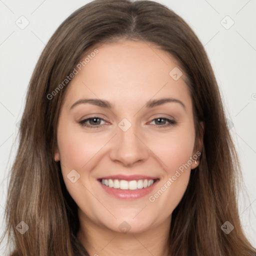
[{"label": "woman's nose, from between the eyes down to the nostrils", "polygon": [[126,131],[117,127],[117,134],[111,145],[111,160],[120,162],[124,166],[144,162],[149,155],[149,149],[143,138],[142,133],[133,124]]}]

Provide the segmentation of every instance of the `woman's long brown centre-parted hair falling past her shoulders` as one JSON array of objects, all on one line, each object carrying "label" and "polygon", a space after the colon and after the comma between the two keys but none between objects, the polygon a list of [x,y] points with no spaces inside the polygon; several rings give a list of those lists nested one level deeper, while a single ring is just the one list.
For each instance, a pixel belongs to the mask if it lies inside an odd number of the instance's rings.
[{"label": "woman's long brown centre-parted hair falling past her shoulders", "polygon": [[[12,255],[88,255],[76,238],[77,205],[53,157],[68,83],[54,96],[49,94],[85,53],[118,39],[151,43],[179,62],[188,77],[196,136],[203,132],[200,164],[191,172],[184,196],[172,212],[171,256],[256,255],[239,220],[240,166],[207,54],[181,17],[147,0],[92,1],[60,24],[42,51],[29,82],[8,187],[6,233],[14,238]],[[204,122],[204,131],[199,121]],[[15,228],[20,221],[29,227],[24,234]],[[220,228],[225,221],[234,226],[229,234]]]}]

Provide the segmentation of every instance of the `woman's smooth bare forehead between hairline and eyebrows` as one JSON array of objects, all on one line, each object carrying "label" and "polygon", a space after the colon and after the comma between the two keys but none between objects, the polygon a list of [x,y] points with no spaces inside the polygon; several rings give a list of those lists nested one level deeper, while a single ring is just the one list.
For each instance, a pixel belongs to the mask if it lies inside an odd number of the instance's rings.
[{"label": "woman's smooth bare forehead between hairline and eyebrows", "polygon": [[[97,49],[96,54],[91,54]],[[81,96],[112,101],[147,101],[152,97],[189,100],[185,73],[168,52],[148,42],[119,40],[90,47],[68,84],[67,101]],[[174,70],[174,71],[173,71]],[[176,79],[173,74],[180,78]],[[174,79],[175,78],[175,79]]]}]

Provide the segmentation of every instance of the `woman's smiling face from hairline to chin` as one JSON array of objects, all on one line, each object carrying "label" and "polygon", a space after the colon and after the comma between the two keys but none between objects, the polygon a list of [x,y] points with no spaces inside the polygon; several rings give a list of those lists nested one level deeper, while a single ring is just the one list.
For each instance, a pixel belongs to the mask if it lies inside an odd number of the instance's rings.
[{"label": "woman's smiling face from hairline to chin", "polygon": [[185,74],[148,43],[97,49],[68,84],[54,158],[80,221],[118,232],[166,225],[198,165]]}]

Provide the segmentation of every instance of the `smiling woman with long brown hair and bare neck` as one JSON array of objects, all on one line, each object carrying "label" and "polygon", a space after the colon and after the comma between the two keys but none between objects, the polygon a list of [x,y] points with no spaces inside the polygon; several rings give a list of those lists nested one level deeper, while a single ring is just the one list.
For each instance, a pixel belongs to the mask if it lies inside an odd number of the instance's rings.
[{"label": "smiling woman with long brown hair and bare neck", "polygon": [[96,0],[57,28],[11,171],[12,255],[256,255],[209,60],[159,3]]}]

